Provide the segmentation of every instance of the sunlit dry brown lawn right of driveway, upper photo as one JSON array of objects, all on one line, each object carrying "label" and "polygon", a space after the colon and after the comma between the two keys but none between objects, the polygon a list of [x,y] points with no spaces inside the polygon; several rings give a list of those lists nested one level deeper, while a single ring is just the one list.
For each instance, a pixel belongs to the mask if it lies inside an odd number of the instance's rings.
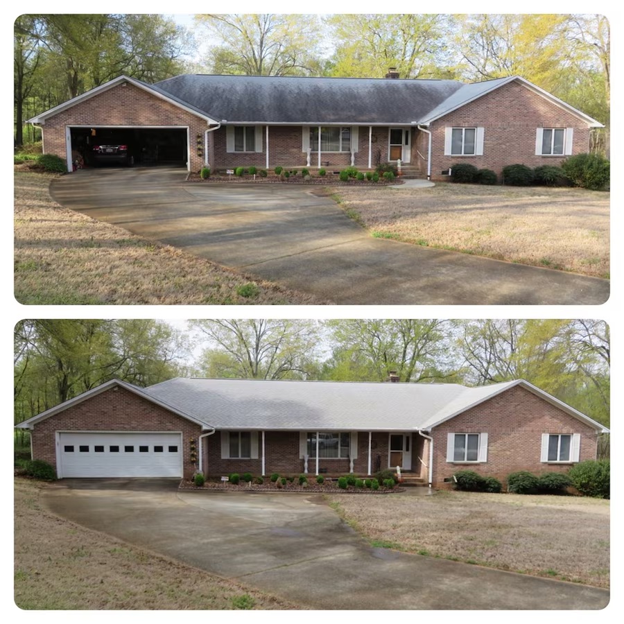
[{"label": "sunlit dry brown lawn right of driveway, upper photo", "polygon": [[333,191],[374,236],[609,277],[609,193],[449,183]]}]

